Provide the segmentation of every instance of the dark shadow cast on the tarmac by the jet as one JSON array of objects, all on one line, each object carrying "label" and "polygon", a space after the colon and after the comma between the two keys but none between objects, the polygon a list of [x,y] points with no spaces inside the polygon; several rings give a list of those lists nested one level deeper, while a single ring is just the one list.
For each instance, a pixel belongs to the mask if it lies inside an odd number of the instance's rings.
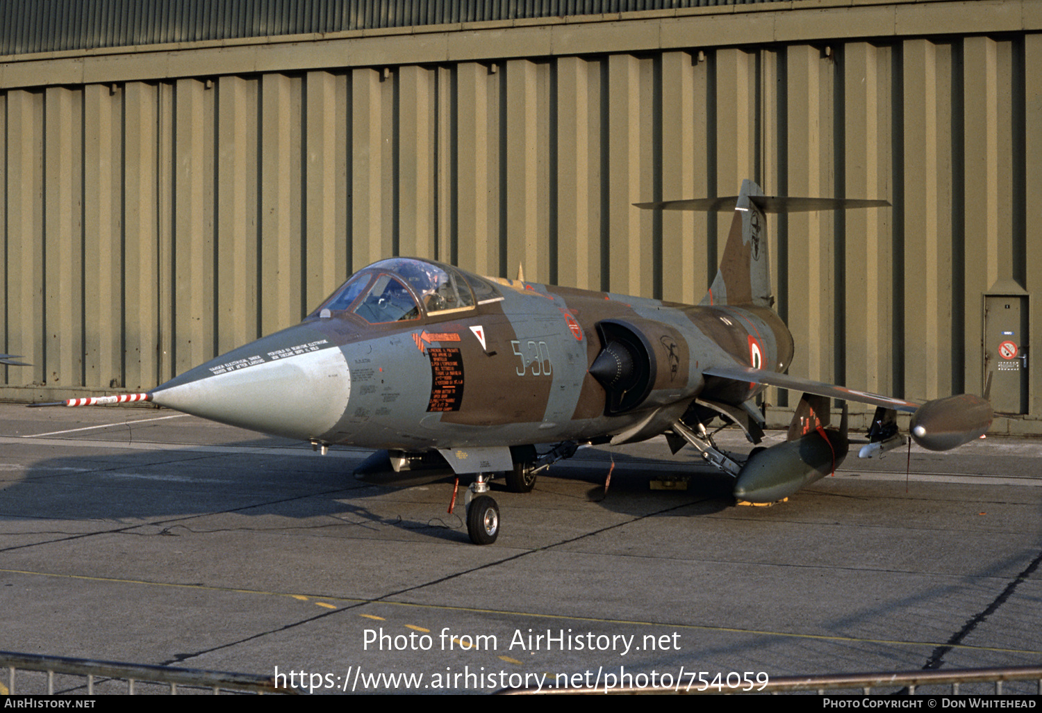
[{"label": "dark shadow cast on the tarmac by the jet", "polygon": [[[31,441],[27,439],[27,444]],[[71,446],[69,456],[48,458],[30,465],[0,463],[0,520],[108,520],[154,521],[191,515],[234,512],[240,515],[275,515],[288,518],[329,516],[345,524],[370,522],[423,532],[440,539],[466,538],[466,487],[463,476],[454,514],[446,513],[452,492],[451,475],[395,474],[386,483],[356,480],[352,472],[362,462],[351,457],[322,458],[287,449],[287,456],[250,452],[277,448],[284,441],[259,438],[232,444],[215,444],[207,451],[148,449],[105,451]],[[239,449],[242,448],[242,451]],[[53,453],[53,446],[41,444]],[[78,452],[77,452],[78,451]],[[653,470],[642,470],[642,463]],[[502,478],[492,481],[491,495],[500,509],[513,511],[511,520],[525,508],[548,507],[582,498],[615,513],[634,516],[690,517],[720,512],[734,505],[731,482],[700,464],[664,471],[652,460],[618,460],[607,488],[610,461],[585,462],[581,467],[551,468],[537,481],[534,496],[507,492]],[[405,477],[401,477],[405,475]],[[686,481],[686,490],[651,490],[652,481]],[[576,488],[575,484],[589,484]],[[410,503],[413,517],[388,515],[387,507],[371,508],[371,498],[387,497],[402,487],[428,486],[437,495],[423,494]],[[442,497],[444,495],[444,497]],[[531,498],[531,499],[529,499]],[[429,517],[416,518],[418,508],[429,508]],[[393,508],[391,509],[393,510]],[[462,528],[463,533],[460,532]]]}]

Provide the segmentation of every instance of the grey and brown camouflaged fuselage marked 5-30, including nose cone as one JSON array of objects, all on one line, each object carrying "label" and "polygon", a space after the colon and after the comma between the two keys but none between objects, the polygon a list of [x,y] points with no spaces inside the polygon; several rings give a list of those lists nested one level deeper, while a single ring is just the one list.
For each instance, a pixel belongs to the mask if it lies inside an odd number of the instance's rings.
[{"label": "grey and brown camouflaged fuselage marked 5-30, including nose cone", "polygon": [[[368,271],[374,285],[393,275],[381,265]],[[764,388],[704,369],[785,371],[792,359],[792,337],[767,308],[455,274],[492,291],[389,322],[359,316],[361,306],[316,311],[164,384],[152,399],[271,435],[368,448],[640,440],[668,429],[696,397],[737,405]],[[613,404],[613,387],[590,369],[620,334],[630,347],[617,351],[640,364]]]}]

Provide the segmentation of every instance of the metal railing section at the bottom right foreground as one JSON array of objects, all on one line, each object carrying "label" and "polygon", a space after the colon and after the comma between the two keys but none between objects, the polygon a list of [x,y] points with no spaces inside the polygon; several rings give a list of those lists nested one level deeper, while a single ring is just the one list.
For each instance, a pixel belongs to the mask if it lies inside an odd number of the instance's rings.
[{"label": "metal railing section at the bottom right foreground", "polygon": [[[800,693],[815,692],[825,695],[829,691],[854,691],[866,695],[882,693],[875,689],[886,689],[887,693],[903,693],[915,695],[921,686],[950,686],[952,695],[965,691],[960,690],[963,684],[992,684],[993,693],[1002,695],[1003,683],[1027,682],[1034,684],[1035,694],[1042,695],[1042,666],[1008,666],[1003,668],[961,668],[949,670],[918,670],[890,671],[882,673],[833,673],[827,675],[790,675],[771,679],[766,685],[749,685],[749,682],[739,680],[735,686],[726,682],[719,685],[706,682],[699,683],[697,674],[690,681],[674,679],[672,685],[655,686],[618,686],[614,688],[547,688],[542,691],[535,688],[508,688],[498,691],[502,694],[526,693]],[[746,690],[747,689],[747,690]],[[896,691],[894,689],[897,689]],[[931,692],[933,694],[933,691]],[[974,691],[974,693],[977,693]],[[1020,693],[1020,691],[1018,691]]]}]

